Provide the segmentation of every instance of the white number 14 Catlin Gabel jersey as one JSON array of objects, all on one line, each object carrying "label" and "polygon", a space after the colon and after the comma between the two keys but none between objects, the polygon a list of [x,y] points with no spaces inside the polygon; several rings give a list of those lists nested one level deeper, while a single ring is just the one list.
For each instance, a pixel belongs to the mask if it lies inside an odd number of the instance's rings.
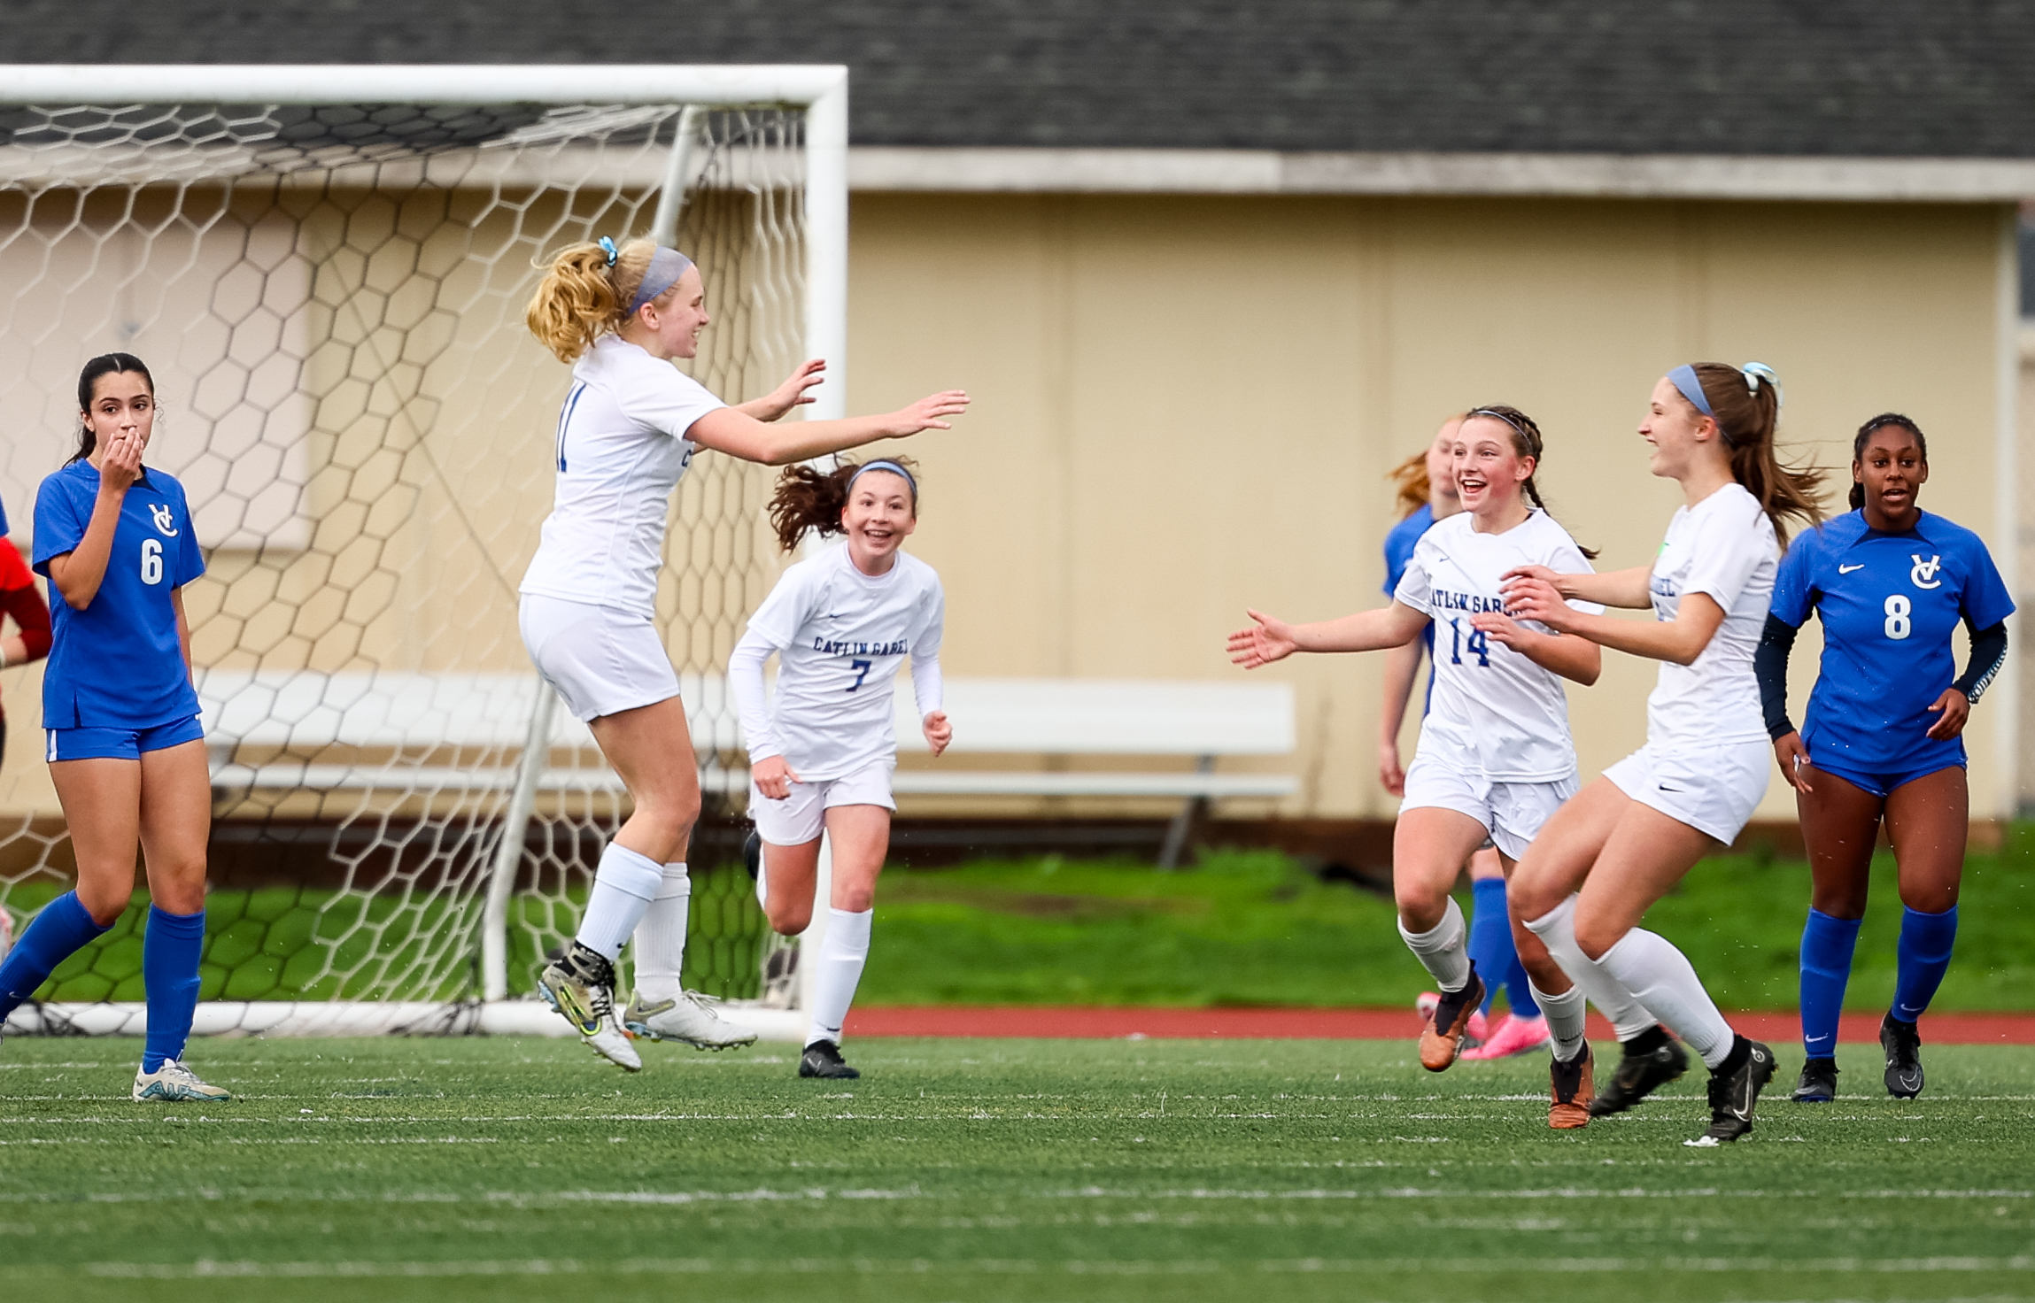
[{"label": "white number 14 Catlin Gabel jersey", "polygon": [[[1492,783],[1559,783],[1575,772],[1569,699],[1561,675],[1469,626],[1479,612],[1504,610],[1508,569],[1547,565],[1589,569],[1583,549],[1543,510],[1502,535],[1479,535],[1459,512],[1420,535],[1394,602],[1435,620],[1435,697],[1420,722],[1418,756]],[[1569,602],[1600,612],[1593,602]],[[1522,620],[1526,628],[1545,626]]]}]

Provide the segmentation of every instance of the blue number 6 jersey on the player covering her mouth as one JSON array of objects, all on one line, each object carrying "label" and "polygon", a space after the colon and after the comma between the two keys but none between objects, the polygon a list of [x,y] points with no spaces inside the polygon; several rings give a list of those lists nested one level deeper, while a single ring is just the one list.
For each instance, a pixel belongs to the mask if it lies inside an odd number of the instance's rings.
[{"label": "blue number 6 jersey on the player covering her mouth", "polygon": [[[92,520],[100,472],[71,461],[35,494],[35,569],[75,551]],[[206,573],[191,508],[175,476],[149,470],[128,488],[106,579],[85,610],[51,583],[43,728],[157,728],[197,713],[171,594]]]}]

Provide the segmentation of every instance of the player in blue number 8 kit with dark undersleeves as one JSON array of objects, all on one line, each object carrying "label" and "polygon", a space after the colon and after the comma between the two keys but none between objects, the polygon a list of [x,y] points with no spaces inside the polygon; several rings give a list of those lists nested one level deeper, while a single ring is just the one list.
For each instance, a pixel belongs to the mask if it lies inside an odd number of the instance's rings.
[{"label": "player in blue number 8 kit with dark undersleeves", "polygon": [[[1895,1002],[1880,1022],[1895,1098],[1921,1094],[1915,1020],[1958,935],[1970,813],[1964,722],[2007,663],[2015,604],[1978,535],[1915,504],[1927,482],[1921,427],[1899,413],[1866,421],[1852,443],[1852,512],[1795,539],[1760,640],[1766,732],[1795,785],[1815,876],[1801,933],[1801,1104],[1838,1096],[1838,1012],[1882,821],[1903,905]],[[1787,659],[1809,612],[1823,622],[1823,663],[1797,734]],[[1950,636],[1960,622],[1972,657],[1954,679]]]}]

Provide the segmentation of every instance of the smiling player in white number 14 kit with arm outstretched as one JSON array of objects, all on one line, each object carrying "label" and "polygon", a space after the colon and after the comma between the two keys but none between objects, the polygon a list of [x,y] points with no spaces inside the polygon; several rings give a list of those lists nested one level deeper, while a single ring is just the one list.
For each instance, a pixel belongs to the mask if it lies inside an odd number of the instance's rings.
[{"label": "smiling player in white number 14 kit with arm outstretched", "polygon": [[[1435,699],[1392,833],[1400,935],[1441,990],[1420,1033],[1420,1065],[1429,1071],[1455,1061],[1484,998],[1463,913],[1449,890],[1463,860],[1486,842],[1510,872],[1540,823],[1575,793],[1575,744],[1561,679],[1595,683],[1600,669],[1595,644],[1545,622],[1512,620],[1502,610],[1506,573],[1522,565],[1589,565],[1540,502],[1532,482],[1540,453],[1540,429],[1518,409],[1471,409],[1449,463],[1463,510],[1420,535],[1390,606],[1323,624],[1286,624],[1249,612],[1256,624],[1229,636],[1229,659],[1256,669],[1296,650],[1388,650],[1418,638],[1429,622],[1435,626]],[[1577,610],[1602,608],[1579,600]],[[1583,1045],[1583,996],[1538,941],[1524,933],[1518,941],[1549,1029]],[[1557,1071],[1549,1124],[1587,1124],[1587,1098],[1583,1045]]]}]

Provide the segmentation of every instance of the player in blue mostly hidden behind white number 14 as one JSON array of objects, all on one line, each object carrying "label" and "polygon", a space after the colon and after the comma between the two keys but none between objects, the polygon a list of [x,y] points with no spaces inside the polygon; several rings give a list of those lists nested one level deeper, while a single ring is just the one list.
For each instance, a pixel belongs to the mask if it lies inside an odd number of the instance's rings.
[{"label": "player in blue mostly hidden behind white number 14", "polygon": [[[1398,484],[1404,518],[1386,533],[1386,596],[1398,592],[1398,581],[1412,561],[1412,551],[1420,537],[1435,524],[1463,510],[1463,498],[1455,492],[1455,476],[1449,459],[1455,451],[1455,431],[1463,417],[1443,421],[1435,441],[1392,470]],[[1420,653],[1435,655],[1435,626],[1424,628],[1420,638],[1386,653],[1386,699],[1378,732],[1378,781],[1394,797],[1406,795],[1406,770],[1400,768],[1398,734],[1406,722],[1406,703],[1412,699],[1412,685],[1420,673]],[[1429,675],[1427,697],[1420,713],[1435,695],[1435,679]],[[1506,870],[1498,860],[1498,848],[1486,846],[1469,856],[1469,890],[1475,909],[1469,913],[1469,959],[1479,974],[1486,974],[1484,1004],[1469,1018],[1469,1035],[1463,1049],[1465,1059],[1506,1059],[1547,1045],[1547,1018],[1528,990],[1526,970],[1520,966],[1518,949],[1512,943],[1512,919],[1506,915]],[[1492,1027],[1490,1012],[1498,992],[1506,992],[1510,1012]],[[1424,992],[1414,1010],[1422,1022],[1435,1018],[1441,992]]]}]

